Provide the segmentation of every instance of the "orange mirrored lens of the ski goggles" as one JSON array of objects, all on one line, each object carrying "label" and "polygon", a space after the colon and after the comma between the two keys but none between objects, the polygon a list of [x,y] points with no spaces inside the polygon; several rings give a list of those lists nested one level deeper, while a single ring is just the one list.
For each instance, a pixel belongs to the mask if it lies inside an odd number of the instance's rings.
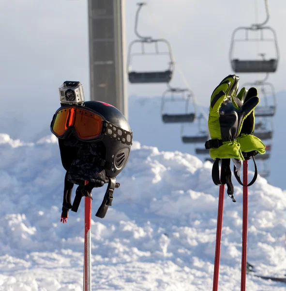
[{"label": "orange mirrored lens of the ski goggles", "polygon": [[95,138],[101,133],[102,121],[102,117],[90,111],[66,108],[57,113],[53,131],[58,136],[62,136],[70,126],[73,126],[78,138]]}]

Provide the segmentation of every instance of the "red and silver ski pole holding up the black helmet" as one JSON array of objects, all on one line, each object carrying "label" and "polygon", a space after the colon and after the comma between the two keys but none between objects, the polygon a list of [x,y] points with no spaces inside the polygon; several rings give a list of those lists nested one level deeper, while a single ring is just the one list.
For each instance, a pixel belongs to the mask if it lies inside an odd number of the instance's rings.
[{"label": "red and silver ski pole holding up the black helmet", "polygon": [[[85,181],[85,185],[89,182]],[[91,193],[90,193],[91,195]],[[91,199],[85,197],[84,199],[84,267],[83,267],[83,291],[91,291]]]}]

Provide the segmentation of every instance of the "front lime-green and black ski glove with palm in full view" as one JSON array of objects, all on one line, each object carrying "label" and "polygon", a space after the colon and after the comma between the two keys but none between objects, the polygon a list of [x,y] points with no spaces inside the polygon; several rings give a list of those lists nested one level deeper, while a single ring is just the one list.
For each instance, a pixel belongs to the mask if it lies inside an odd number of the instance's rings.
[{"label": "front lime-green and black ski glove with palm in full view", "polygon": [[[211,140],[206,142],[205,147],[210,148],[212,159],[244,160],[237,137],[241,133],[244,119],[253,112],[259,99],[257,96],[251,97],[242,104],[236,97],[239,79],[236,75],[228,75],[211,95],[208,121]],[[239,96],[243,96],[244,91],[245,88]]]}]

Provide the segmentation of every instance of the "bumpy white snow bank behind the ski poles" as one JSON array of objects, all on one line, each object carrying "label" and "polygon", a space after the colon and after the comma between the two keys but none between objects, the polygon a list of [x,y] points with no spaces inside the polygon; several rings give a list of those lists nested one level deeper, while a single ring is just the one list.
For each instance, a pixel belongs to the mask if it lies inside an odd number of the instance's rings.
[{"label": "bumpy white snow bank behind the ski poles", "polygon": [[[164,136],[150,143],[164,147]],[[0,134],[0,161],[0,291],[81,291],[83,203],[60,223],[57,139]],[[92,290],[211,290],[218,204],[211,166],[186,151],[134,142],[104,219],[95,213],[105,187],[93,191]],[[221,291],[240,290],[242,188],[234,185],[237,202],[225,196]],[[285,275],[285,194],[260,176],[249,188],[248,261],[258,275]],[[247,290],[271,289],[285,284],[247,275]]]}]

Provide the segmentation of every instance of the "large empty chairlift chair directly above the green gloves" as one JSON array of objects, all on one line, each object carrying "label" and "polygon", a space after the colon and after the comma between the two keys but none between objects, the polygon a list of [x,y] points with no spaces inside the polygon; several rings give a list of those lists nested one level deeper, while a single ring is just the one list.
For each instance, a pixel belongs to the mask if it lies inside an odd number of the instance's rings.
[{"label": "large empty chairlift chair directly above the green gloves", "polygon": [[[262,23],[256,23],[253,24],[250,27],[238,27],[234,30],[231,36],[231,43],[230,43],[230,49],[229,49],[229,60],[232,66],[232,69],[236,73],[273,73],[277,69],[277,65],[279,62],[279,50],[278,50],[278,43],[277,43],[277,36],[276,32],[269,26],[265,26],[265,24],[269,20],[269,9],[268,9],[268,0],[265,0],[265,8],[266,8],[266,20],[264,20]],[[245,32],[244,38],[236,38],[236,35],[238,32]],[[259,31],[260,37],[258,38],[249,38],[248,34],[249,31]],[[264,33],[270,32],[272,37],[271,38],[265,38]],[[274,45],[275,49],[275,58],[266,60],[263,55],[262,59],[260,60],[241,60],[233,57],[233,51],[234,51],[234,45],[237,42],[266,42],[270,41]]]}]

